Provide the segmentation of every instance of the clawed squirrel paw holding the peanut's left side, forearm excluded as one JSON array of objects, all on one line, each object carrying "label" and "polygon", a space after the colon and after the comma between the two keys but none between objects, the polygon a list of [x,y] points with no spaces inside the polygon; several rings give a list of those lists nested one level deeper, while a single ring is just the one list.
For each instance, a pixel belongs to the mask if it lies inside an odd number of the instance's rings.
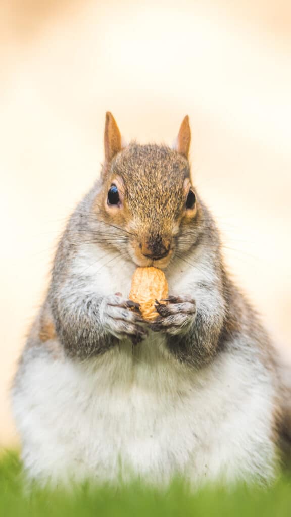
[{"label": "clawed squirrel paw holding the peanut's left side, forearm excluded", "polygon": [[104,328],[118,339],[130,339],[133,344],[139,343],[148,335],[142,324],[138,303],[116,295],[106,296],[101,302],[100,320]]}]

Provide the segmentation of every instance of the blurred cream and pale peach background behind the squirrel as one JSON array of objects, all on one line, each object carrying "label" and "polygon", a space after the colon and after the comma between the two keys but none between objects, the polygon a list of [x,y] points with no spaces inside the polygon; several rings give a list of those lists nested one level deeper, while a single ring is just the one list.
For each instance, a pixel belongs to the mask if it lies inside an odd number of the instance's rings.
[{"label": "blurred cream and pale peach background behind the squirrel", "polygon": [[227,263],[291,352],[289,1],[2,0],[0,59],[0,444],[17,444],[11,378],[106,110],[141,143],[171,144],[190,115]]}]

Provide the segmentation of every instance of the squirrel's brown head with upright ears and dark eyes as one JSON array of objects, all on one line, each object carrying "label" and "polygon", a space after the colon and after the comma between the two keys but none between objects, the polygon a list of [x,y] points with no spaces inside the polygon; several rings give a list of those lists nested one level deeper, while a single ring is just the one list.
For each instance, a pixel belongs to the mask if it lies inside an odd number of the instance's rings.
[{"label": "squirrel's brown head with upright ears and dark eyes", "polygon": [[165,268],[197,238],[200,210],[190,178],[190,142],[186,116],[174,149],[135,142],[123,147],[117,123],[106,113],[105,162],[93,209],[117,236],[110,244],[119,249],[124,244],[138,266]]}]

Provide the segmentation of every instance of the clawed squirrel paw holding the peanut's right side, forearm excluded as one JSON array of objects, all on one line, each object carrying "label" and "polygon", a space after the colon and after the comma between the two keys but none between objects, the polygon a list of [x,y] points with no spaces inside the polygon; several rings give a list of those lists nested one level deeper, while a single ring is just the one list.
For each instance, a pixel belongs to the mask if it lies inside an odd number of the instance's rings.
[{"label": "clawed squirrel paw holding the peanut's right side, forearm excluded", "polygon": [[189,296],[169,296],[161,300],[167,301],[167,305],[156,300],[155,308],[159,313],[156,321],[150,325],[154,332],[167,332],[175,335],[184,333],[194,323],[196,315],[196,302]]}]

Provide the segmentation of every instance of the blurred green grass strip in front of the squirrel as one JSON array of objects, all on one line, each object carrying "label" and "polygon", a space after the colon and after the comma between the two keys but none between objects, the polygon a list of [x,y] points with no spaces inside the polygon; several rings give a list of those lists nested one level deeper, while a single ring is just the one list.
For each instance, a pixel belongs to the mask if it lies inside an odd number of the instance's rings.
[{"label": "blurred green grass strip in front of the squirrel", "polygon": [[181,481],[173,482],[166,492],[133,483],[120,489],[88,484],[70,493],[34,487],[25,490],[21,464],[15,453],[0,459],[0,515],[3,517],[290,517],[291,478],[282,477],[272,488],[244,486],[226,491],[205,488],[195,494]]}]

